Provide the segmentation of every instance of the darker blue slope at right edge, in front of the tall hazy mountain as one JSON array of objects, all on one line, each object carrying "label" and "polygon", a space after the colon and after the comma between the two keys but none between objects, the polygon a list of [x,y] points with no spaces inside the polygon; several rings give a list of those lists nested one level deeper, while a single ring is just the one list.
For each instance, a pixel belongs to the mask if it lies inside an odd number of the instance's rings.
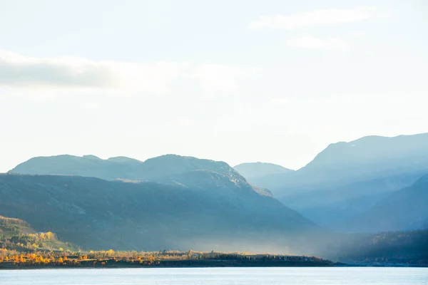
[{"label": "darker blue slope at right edge, in front of the tall hazy mountain", "polygon": [[[353,232],[428,229],[428,175],[344,224]],[[427,241],[428,242],[428,241]]]}]

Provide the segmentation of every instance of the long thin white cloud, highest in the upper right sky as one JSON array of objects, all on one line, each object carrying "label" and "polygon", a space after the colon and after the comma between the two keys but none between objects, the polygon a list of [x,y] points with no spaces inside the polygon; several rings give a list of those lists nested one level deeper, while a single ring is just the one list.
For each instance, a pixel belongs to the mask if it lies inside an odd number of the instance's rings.
[{"label": "long thin white cloud, highest in the upper right sky", "polygon": [[322,9],[306,13],[283,16],[260,16],[249,28],[284,28],[295,29],[308,26],[332,26],[382,16],[376,7],[364,6],[355,9]]}]

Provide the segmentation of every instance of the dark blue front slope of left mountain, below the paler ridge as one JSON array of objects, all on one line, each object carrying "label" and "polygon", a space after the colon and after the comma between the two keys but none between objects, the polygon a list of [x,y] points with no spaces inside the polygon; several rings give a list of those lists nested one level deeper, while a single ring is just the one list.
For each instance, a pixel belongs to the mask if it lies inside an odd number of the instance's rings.
[{"label": "dark blue front slope of left mountain, below the paler ridge", "polygon": [[0,214],[93,249],[276,247],[286,252],[291,247],[296,252],[303,247],[298,238],[318,231],[315,224],[248,184],[223,184],[199,189],[78,176],[0,175]]}]

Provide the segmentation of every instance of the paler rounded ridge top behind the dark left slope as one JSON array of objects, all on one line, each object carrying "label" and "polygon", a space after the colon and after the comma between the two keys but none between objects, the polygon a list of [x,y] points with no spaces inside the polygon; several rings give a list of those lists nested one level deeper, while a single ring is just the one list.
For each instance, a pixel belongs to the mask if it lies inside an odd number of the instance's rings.
[{"label": "paler rounded ridge top behind the dark left slope", "polygon": [[225,162],[201,160],[180,155],[163,155],[148,159],[145,162],[129,157],[111,157],[108,160],[102,160],[94,155],[34,157],[9,172],[29,175],[81,175],[105,180],[118,178],[153,180],[192,170],[233,172]]}]

